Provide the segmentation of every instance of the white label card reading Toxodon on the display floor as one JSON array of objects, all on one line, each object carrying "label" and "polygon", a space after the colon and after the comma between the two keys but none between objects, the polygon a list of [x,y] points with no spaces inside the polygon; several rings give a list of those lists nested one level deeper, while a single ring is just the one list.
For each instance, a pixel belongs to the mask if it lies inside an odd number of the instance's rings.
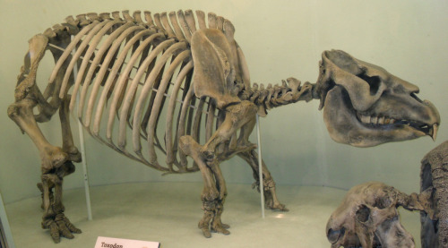
[{"label": "white label card reading Toxodon on the display floor", "polygon": [[159,248],[159,242],[99,236],[95,248]]}]

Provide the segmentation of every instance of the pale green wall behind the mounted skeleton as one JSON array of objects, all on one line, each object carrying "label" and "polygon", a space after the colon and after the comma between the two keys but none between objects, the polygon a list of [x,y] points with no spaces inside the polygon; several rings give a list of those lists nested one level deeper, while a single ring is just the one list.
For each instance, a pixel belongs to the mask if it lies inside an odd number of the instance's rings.
[{"label": "pale green wall behind the mounted skeleton", "polygon": [[[38,152],[6,116],[13,102],[16,75],[27,40],[70,14],[201,9],[225,16],[236,26],[252,80],[280,82],[296,77],[314,82],[325,49],[338,48],[418,84],[420,98],[431,100],[442,115],[436,142],[430,138],[356,149],[329,138],[318,102],[271,111],[262,120],[263,158],[277,184],[325,185],[348,189],[369,180],[418,191],[419,161],[448,139],[448,2],[446,1],[29,1],[0,0],[0,190],[5,202],[37,195]],[[40,74],[39,80],[47,80]],[[43,130],[60,144],[55,116]],[[74,126],[75,130],[76,126]],[[255,141],[255,140],[254,140]],[[93,185],[130,181],[200,181],[196,175],[159,175],[87,138]],[[251,184],[252,171],[238,158],[223,165],[228,183]],[[65,181],[81,187],[81,167]],[[231,193],[231,192],[230,192]],[[198,192],[199,194],[199,192]]]}]

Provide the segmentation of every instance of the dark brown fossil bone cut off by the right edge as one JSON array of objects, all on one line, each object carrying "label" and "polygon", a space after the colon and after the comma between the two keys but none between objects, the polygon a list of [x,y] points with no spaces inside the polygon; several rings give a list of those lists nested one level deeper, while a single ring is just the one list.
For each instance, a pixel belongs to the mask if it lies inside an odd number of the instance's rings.
[{"label": "dark brown fossil bone cut off by the right edge", "polygon": [[421,247],[448,247],[448,141],[421,161],[421,192],[430,192],[433,213],[420,212]]}]

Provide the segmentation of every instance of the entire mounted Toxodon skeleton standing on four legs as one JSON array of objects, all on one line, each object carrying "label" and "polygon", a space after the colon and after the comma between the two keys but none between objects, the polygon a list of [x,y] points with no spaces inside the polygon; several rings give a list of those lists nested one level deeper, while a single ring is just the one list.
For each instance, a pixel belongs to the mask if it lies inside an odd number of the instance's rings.
[{"label": "entire mounted Toxodon skeleton standing on four legs", "polygon": [[[435,138],[439,115],[415,96],[417,86],[345,52],[323,53],[315,84],[289,78],[273,87],[252,87],[230,21],[201,11],[144,12],[145,21],[141,14],[70,16],[30,39],[8,115],[39,150],[42,227],[50,229],[56,243],[61,235],[72,238],[72,232],[80,232],[65,217],[61,200],[63,177],[73,172],[72,162],[81,160],[73,144],[69,111],[76,111],[95,139],[128,158],[166,174],[201,171],[204,214],[199,226],[207,237],[211,231],[228,234],[220,219],[227,195],[220,162],[237,155],[259,180],[258,155],[248,141],[257,113],[264,116],[273,107],[319,98],[335,141],[366,147],[426,134]],[[56,64],[41,93],[36,73],[47,50]],[[50,144],[38,126],[57,110],[62,148]],[[364,116],[384,121],[366,123]],[[159,139],[160,133],[164,138]],[[156,148],[167,155],[164,163]],[[194,163],[188,163],[186,156]],[[262,166],[259,190],[266,205],[287,210],[277,199],[270,172]]]}]

